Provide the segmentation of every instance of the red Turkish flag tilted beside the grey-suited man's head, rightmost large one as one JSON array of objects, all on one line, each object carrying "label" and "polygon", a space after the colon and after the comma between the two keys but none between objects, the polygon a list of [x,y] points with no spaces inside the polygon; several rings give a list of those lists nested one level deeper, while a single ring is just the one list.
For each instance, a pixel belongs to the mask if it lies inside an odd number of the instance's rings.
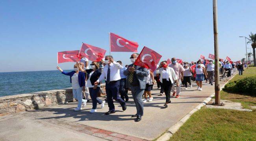
[{"label": "red Turkish flag tilted beside the grey-suited man's head, rightmost large one", "polygon": [[143,47],[141,53],[134,62],[134,65],[150,69],[150,71],[154,72],[156,70],[156,65],[159,63],[161,57],[162,56],[160,54],[153,51],[152,49]]}]

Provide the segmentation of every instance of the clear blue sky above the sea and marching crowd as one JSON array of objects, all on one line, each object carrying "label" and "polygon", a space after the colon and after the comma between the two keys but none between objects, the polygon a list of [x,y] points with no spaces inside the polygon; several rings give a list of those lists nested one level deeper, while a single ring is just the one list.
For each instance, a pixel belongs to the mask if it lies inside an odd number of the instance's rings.
[{"label": "clear blue sky above the sea and marching crowd", "polygon": [[[245,57],[238,36],[256,33],[255,5],[218,1],[221,58]],[[138,42],[139,52],[157,51],[161,60],[195,61],[214,53],[212,13],[212,0],[1,0],[0,72],[56,70],[57,52],[79,50],[82,42],[109,52],[109,32]],[[112,54],[130,63],[131,52]]]}]

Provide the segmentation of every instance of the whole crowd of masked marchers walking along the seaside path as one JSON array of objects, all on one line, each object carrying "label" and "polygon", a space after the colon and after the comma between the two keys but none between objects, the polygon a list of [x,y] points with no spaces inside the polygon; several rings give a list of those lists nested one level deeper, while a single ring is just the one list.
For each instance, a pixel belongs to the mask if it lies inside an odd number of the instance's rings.
[{"label": "whole crowd of masked marchers walking along the seaside path", "polygon": [[[80,62],[76,62],[74,71],[71,72],[65,72],[57,66],[62,74],[70,77],[73,97],[78,101],[74,111],[79,111],[82,107],[85,107],[89,101],[89,96],[93,103],[90,113],[97,111],[97,103],[103,108],[106,101],[109,110],[105,114],[115,113],[113,100],[117,101],[124,111],[126,110],[126,102],[129,101],[128,90],[130,90],[137,110],[137,113],[132,117],[136,117],[135,121],[141,121],[143,103],[153,100],[151,90],[154,83],[157,83],[157,87],[160,89],[160,96],[165,93],[166,101],[163,106],[168,107],[168,104],[171,103],[171,91],[173,97],[179,98],[181,85],[185,87],[184,90],[187,90],[188,85],[189,88],[192,88],[191,81],[196,81],[197,90],[200,91],[202,91],[204,80],[206,83],[209,81],[209,84],[213,85],[215,65],[218,65],[220,74],[227,73],[228,77],[236,69],[239,71],[239,75],[243,75],[244,64],[241,62],[230,63],[229,61],[219,60],[216,64],[213,60],[208,62],[198,60],[196,62],[191,61],[191,63],[178,63],[176,58],[171,58],[169,64],[167,64],[167,61],[161,61],[160,65],[157,65],[157,69],[152,72],[150,69],[134,65],[138,56],[138,53],[133,53],[130,56],[131,64],[125,66],[122,66],[122,61],[114,61],[113,56],[110,55],[105,56],[100,62],[92,61],[90,65],[88,59],[84,57]],[[193,65],[196,65],[195,71],[191,69]],[[89,69],[89,66],[91,69]],[[106,83],[106,101],[98,98],[102,81]]]}]

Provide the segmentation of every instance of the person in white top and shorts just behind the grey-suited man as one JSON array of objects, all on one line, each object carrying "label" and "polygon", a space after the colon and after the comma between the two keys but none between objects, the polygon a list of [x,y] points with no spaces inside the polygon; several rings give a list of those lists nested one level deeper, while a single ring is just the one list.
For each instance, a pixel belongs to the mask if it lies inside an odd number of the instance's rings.
[{"label": "person in white top and shorts just behind the grey-suited man", "polygon": [[[145,99],[142,101],[143,103],[145,102],[151,102],[153,100],[153,97],[151,95],[151,88],[154,85],[154,74],[153,72],[148,69],[148,76],[146,77],[146,89],[144,91],[144,97]],[[149,96],[149,99],[147,99],[147,95]]]}]

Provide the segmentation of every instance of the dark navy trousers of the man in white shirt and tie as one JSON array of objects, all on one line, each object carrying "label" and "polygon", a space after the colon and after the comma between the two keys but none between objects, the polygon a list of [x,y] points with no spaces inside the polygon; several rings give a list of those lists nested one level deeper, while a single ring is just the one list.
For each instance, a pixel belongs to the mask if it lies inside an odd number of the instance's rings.
[{"label": "dark navy trousers of the man in white shirt and tie", "polygon": [[120,80],[117,80],[115,82],[110,81],[110,83],[106,84],[108,107],[109,107],[109,110],[111,111],[115,111],[115,105],[114,105],[113,99],[115,99],[115,101],[118,101],[121,106],[125,105],[124,100],[119,96],[119,87],[120,87]]}]

